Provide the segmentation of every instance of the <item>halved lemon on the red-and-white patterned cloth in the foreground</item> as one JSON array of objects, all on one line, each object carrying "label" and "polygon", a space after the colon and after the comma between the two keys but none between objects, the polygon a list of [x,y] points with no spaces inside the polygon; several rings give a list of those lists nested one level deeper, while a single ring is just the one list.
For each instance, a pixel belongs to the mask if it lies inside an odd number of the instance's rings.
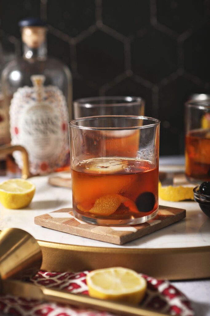
[{"label": "halved lemon on the red-and-white patterned cloth in the foreground", "polygon": [[147,287],[146,280],[133,270],[116,267],[88,273],[87,285],[92,297],[139,304]]}]

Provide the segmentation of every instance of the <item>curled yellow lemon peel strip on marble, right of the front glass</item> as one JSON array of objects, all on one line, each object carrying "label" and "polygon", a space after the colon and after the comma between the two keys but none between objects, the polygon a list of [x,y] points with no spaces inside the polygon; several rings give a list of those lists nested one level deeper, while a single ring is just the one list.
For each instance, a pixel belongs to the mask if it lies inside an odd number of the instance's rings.
[{"label": "curled yellow lemon peel strip on marble, right of the front glass", "polygon": [[193,186],[162,186],[159,182],[159,197],[172,202],[194,200]]}]

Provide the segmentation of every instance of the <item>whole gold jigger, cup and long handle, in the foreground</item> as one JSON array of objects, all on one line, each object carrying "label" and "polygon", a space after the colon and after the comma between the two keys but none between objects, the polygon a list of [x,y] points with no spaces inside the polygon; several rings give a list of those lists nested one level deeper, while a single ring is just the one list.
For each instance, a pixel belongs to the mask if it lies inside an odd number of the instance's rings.
[{"label": "whole gold jigger, cup and long handle, in the foreground", "polygon": [[[125,316],[167,316],[142,307],[99,300],[87,295],[48,289],[33,283],[14,280],[34,276],[42,264],[42,252],[37,241],[19,228],[8,228],[0,234],[0,290],[1,294],[17,295],[36,300],[95,308]],[[169,315],[168,315],[169,316]]]}]

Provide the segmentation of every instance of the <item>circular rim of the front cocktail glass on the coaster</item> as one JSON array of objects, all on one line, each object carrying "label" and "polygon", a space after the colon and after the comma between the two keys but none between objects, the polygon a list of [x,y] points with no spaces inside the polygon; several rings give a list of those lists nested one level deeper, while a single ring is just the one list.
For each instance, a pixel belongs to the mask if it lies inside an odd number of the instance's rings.
[{"label": "circular rim of the front cocktail glass on the coaster", "polygon": [[[75,125],[75,122],[78,121],[85,121],[85,120],[94,120],[94,119],[102,119],[102,118],[127,118],[127,119],[142,119],[142,120],[152,120],[154,123],[142,126],[123,126],[123,127],[90,127],[90,126],[82,126],[82,125]],[[101,115],[101,116],[87,116],[83,118],[73,119],[68,122],[70,127],[83,129],[83,130],[96,130],[96,131],[121,131],[121,130],[139,130],[144,128],[150,128],[160,125],[160,120],[155,119],[149,116],[138,116],[138,115]]]}]

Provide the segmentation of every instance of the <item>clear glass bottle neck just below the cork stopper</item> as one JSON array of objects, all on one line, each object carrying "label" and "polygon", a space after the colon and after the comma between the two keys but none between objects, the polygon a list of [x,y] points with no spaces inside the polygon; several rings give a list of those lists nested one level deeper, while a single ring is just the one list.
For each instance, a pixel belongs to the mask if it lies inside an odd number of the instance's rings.
[{"label": "clear glass bottle neck just below the cork stopper", "polygon": [[27,60],[45,60],[47,58],[46,41],[36,48],[30,47],[26,43],[23,43],[23,58]]}]

